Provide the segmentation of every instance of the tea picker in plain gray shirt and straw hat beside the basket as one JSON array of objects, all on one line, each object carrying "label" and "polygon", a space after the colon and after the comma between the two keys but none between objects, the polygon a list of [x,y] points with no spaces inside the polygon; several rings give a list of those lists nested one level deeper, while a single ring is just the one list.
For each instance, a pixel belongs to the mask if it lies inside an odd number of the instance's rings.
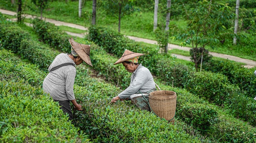
[{"label": "tea picker in plain gray shirt and straw hat beside the basket", "polygon": [[148,95],[150,92],[156,91],[156,87],[149,69],[138,63],[138,58],[142,55],[144,54],[125,50],[121,58],[114,63],[114,65],[122,63],[132,75],[129,87],[112,98],[112,103],[117,100],[131,100],[137,107],[150,111],[147,102]]}]

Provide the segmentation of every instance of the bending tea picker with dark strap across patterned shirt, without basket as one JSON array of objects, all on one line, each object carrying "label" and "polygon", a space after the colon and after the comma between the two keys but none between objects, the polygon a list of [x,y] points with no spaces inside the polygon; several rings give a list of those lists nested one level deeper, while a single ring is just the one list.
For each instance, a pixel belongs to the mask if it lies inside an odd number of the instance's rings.
[{"label": "bending tea picker with dark strap across patterned shirt, without basket", "polygon": [[75,65],[87,63],[92,66],[90,60],[90,45],[80,44],[69,39],[71,54],[58,54],[49,66],[49,73],[43,81],[43,91],[49,93],[52,99],[61,106],[64,113],[69,114],[69,120],[73,119],[70,101],[78,111],[82,106],[76,102],[74,96],[74,80],[76,77]]}]

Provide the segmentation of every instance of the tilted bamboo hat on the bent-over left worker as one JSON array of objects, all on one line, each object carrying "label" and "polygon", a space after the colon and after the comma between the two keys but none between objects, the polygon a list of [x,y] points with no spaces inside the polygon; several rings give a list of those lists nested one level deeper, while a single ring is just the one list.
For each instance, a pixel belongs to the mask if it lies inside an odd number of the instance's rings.
[{"label": "tilted bamboo hat on the bent-over left worker", "polygon": [[77,43],[73,38],[69,39],[70,45],[76,51],[76,53],[82,58],[82,60],[88,65],[92,66],[92,62],[90,59],[90,45],[85,45],[81,43]]}]

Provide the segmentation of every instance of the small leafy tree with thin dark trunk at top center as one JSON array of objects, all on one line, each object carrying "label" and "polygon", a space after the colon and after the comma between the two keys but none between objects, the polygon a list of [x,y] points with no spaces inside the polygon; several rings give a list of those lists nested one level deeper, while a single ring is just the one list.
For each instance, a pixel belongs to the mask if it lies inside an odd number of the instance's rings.
[{"label": "small leafy tree with thin dark trunk at top center", "polygon": [[103,0],[103,8],[108,15],[118,18],[118,32],[121,29],[121,18],[137,11],[132,4],[135,0]]}]

